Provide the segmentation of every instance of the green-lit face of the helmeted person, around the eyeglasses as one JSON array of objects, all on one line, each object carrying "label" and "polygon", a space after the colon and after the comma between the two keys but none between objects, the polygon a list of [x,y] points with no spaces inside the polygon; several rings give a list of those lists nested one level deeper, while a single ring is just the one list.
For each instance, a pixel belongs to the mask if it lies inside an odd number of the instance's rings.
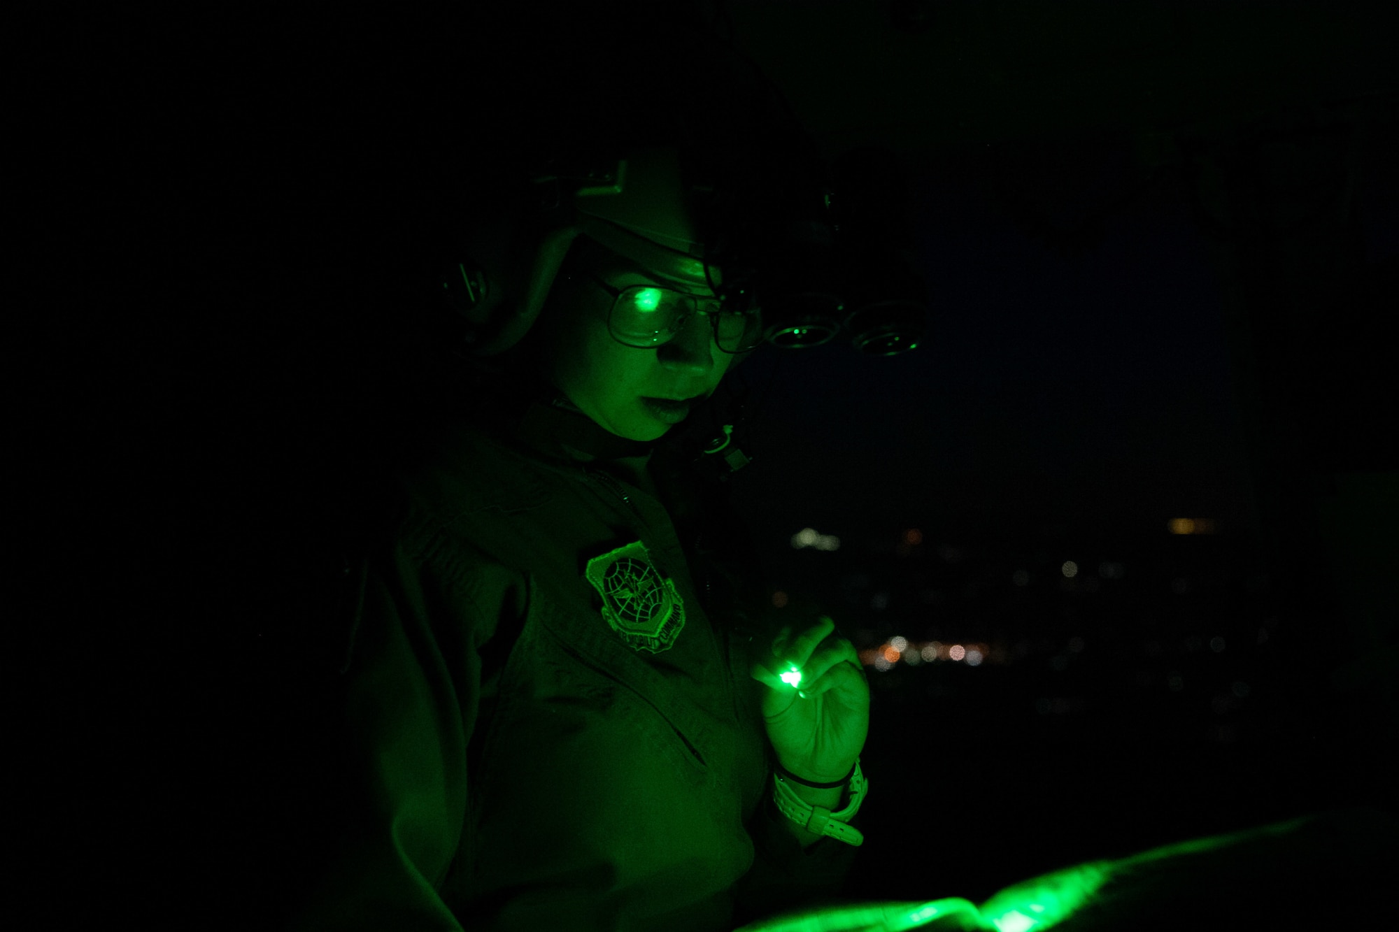
[{"label": "green-lit face of the helmeted person, around the eyeglasses", "polygon": [[634,441],[653,441],[673,424],[660,420],[645,399],[697,399],[713,395],[725,374],[748,353],[730,354],[715,341],[713,325],[693,313],[660,346],[624,346],[607,330],[613,295],[586,273],[621,290],[655,284],[698,297],[713,297],[704,278],[674,278],[617,256],[604,256],[574,274],[551,355],[554,386],[599,427]]}]

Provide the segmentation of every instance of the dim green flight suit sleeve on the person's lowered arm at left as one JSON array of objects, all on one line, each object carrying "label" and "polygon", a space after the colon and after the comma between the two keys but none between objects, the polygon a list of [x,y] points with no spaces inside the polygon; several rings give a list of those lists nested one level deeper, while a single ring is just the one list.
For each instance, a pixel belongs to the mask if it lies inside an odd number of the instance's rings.
[{"label": "dim green flight suit sleeve on the person's lowered arm at left", "polygon": [[[460,931],[439,894],[467,828],[477,645],[511,605],[492,561],[436,567],[395,544],[365,560],[341,693],[339,842],[285,928]],[[470,563],[470,561],[469,561]],[[463,841],[467,844],[463,845]]]}]

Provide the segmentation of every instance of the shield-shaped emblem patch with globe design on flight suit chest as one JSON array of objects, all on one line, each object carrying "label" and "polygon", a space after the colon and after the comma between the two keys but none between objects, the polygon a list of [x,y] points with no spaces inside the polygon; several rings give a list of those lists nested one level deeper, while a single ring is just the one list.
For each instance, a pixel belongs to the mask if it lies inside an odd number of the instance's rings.
[{"label": "shield-shaped emblem patch with globe design on flight suit chest", "polygon": [[588,561],[585,574],[603,599],[603,619],[634,651],[660,654],[686,627],[676,584],[662,579],[646,544],[637,540]]}]

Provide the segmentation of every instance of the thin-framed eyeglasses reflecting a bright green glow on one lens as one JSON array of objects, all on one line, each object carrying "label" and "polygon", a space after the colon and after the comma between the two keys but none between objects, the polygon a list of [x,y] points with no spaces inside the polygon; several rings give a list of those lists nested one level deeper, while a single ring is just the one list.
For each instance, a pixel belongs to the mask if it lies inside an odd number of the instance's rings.
[{"label": "thin-framed eyeglasses reflecting a bright green glow on one lens", "polygon": [[[607,330],[624,346],[645,350],[669,343],[697,311],[709,318],[713,341],[725,353],[747,353],[762,344],[762,312],[757,308],[725,311],[715,298],[701,299],[649,284],[613,288],[595,274],[585,277],[613,297]],[[700,306],[701,301],[704,306]]]}]

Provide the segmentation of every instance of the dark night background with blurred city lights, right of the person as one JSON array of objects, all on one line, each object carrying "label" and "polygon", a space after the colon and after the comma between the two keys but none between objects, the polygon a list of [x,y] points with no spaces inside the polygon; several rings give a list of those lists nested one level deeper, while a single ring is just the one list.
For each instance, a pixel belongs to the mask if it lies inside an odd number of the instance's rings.
[{"label": "dark night background with blurred city lights, right of the person", "polygon": [[[754,357],[734,498],[769,589],[817,593],[858,648],[992,648],[867,668],[877,844],[852,886],[977,900],[1392,810],[1392,20],[795,8],[732,10],[830,153],[904,155],[933,315],[902,357]],[[839,549],[795,549],[803,528]]]}]

